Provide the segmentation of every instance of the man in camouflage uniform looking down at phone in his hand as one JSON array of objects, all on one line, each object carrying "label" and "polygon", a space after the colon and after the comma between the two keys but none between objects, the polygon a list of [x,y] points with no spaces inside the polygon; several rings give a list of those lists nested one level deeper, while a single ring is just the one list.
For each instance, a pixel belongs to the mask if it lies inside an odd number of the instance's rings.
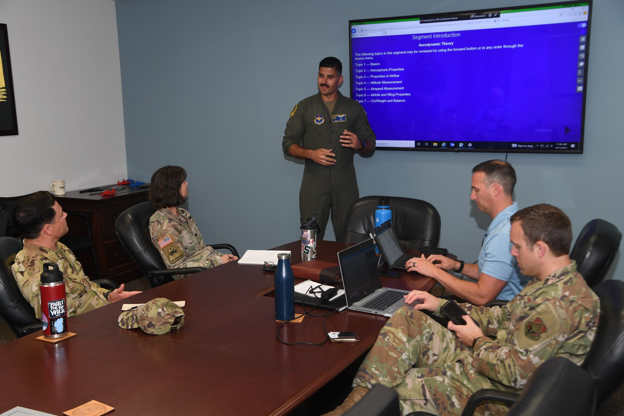
[{"label": "man in camouflage uniform looking down at phone in his hand", "polygon": [[[328,415],[341,415],[375,383],[399,394],[403,414],[425,410],[459,415],[479,389],[514,392],[534,370],[560,355],[580,365],[595,336],[598,297],[568,257],[570,220],[548,204],[511,217],[511,253],[522,274],[534,276],[509,304],[461,304],[466,325],[448,329],[419,309],[440,314],[446,300],[412,290],[379,333],[354,380],[355,389]],[[478,415],[503,415],[508,408],[487,402]]]}]

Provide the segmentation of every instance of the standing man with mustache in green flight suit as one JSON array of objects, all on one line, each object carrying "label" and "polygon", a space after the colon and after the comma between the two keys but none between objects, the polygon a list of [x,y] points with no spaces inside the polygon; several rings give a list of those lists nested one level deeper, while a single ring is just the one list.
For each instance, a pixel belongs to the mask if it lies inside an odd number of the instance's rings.
[{"label": "standing man with mustache in green flight suit", "polygon": [[330,213],[336,240],[341,239],[347,211],[359,198],[353,155],[371,157],[375,152],[375,134],[363,107],[338,91],[342,72],[343,64],[335,57],[319,63],[319,92],[293,108],[281,143],[286,156],[306,161],[300,216],[305,221],[318,215],[319,240]]}]

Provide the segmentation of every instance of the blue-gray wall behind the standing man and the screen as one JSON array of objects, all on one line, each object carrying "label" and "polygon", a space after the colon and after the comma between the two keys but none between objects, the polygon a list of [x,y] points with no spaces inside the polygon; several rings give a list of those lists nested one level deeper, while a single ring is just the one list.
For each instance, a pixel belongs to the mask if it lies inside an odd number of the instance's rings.
[{"label": "blue-gray wall behind the standing man and the screen", "polygon": [[[319,60],[333,55],[348,65],[349,19],[535,2],[119,1],[128,175],[147,181],[166,164],[185,167],[188,208],[208,243],[231,242],[242,254],[296,240],[303,166],[283,156],[281,137],[295,103],[316,92]],[[507,159],[519,177],[520,207],[548,202],[562,208],[575,235],[593,218],[624,230],[622,16],[621,0],[594,2],[585,153]],[[341,91],[348,95],[344,72]],[[442,217],[441,246],[474,260],[489,217],[469,200],[470,169],[495,157],[505,154],[356,157],[360,195],[431,202]],[[331,230],[326,238],[333,238]],[[610,277],[624,280],[619,257]]]}]

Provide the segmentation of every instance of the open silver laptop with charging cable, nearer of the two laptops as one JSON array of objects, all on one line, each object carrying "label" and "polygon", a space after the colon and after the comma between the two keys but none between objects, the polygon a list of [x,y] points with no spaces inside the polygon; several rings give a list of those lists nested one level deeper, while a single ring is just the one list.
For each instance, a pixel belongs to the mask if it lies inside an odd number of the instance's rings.
[{"label": "open silver laptop with charging cable, nearer of the two laptops", "polygon": [[395,310],[406,305],[403,296],[409,290],[381,286],[373,239],[338,252],[338,264],[349,309],[392,316]]}]

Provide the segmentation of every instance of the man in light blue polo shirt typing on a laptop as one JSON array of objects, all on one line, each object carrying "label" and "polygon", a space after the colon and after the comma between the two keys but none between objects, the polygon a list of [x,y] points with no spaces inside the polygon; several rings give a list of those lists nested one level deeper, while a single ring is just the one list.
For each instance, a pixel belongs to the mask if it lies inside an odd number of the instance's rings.
[{"label": "man in light blue polo shirt typing on a laptop", "polygon": [[[442,255],[414,257],[406,263],[408,271],[433,277],[453,294],[474,305],[485,305],[490,300],[511,300],[524,289],[530,277],[520,273],[520,267],[511,255],[510,217],[518,210],[512,199],[515,186],[514,168],[498,159],[478,164],[472,169],[470,199],[481,212],[490,215],[477,264],[464,264]],[[433,264],[439,261],[439,264]],[[477,280],[457,279],[446,270],[454,270]]]}]

